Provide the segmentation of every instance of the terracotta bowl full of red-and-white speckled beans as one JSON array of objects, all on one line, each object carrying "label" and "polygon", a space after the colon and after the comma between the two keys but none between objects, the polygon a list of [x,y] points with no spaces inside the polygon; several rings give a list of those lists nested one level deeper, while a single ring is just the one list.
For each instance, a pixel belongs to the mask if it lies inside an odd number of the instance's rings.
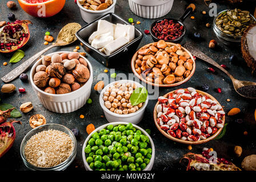
[{"label": "terracotta bowl full of red-and-white speckled beans", "polygon": [[221,133],[225,112],[213,96],[189,87],[158,97],[154,121],[158,130],[175,142],[201,144]]}]

